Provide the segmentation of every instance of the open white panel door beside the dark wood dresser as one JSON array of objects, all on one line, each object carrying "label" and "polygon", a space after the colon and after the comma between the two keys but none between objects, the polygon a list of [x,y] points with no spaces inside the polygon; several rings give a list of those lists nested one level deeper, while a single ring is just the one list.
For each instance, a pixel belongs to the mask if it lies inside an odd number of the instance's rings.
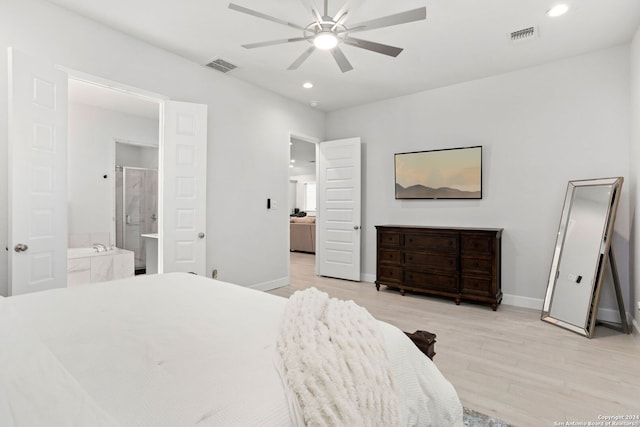
[{"label": "open white panel door beside the dark wood dresser", "polygon": [[360,280],[360,138],[319,144],[317,270]]}]

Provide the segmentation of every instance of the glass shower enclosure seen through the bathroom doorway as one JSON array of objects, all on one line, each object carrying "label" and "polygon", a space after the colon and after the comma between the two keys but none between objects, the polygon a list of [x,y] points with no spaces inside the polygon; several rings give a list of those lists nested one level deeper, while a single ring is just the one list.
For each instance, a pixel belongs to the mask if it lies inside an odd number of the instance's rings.
[{"label": "glass shower enclosure seen through the bathroom doorway", "polygon": [[146,271],[142,234],[158,232],[157,169],[116,167],[116,246],[134,252],[136,274]]}]

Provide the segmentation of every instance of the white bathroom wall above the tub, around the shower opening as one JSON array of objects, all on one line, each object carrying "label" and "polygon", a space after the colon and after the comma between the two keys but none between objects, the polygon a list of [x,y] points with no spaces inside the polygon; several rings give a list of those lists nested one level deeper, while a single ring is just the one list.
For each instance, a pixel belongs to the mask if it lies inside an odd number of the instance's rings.
[{"label": "white bathroom wall above the tub, around the shower opening", "polygon": [[69,104],[69,234],[114,231],[115,140],[157,146],[158,126],[157,119]]}]

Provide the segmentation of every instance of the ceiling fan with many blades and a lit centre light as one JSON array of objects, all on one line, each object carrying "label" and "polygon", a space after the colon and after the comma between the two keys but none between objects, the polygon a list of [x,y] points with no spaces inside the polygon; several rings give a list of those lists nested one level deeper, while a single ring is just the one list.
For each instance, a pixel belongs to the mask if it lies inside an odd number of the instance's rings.
[{"label": "ceiling fan with many blades and a lit centre light", "polygon": [[[329,16],[329,0],[324,0],[324,14],[320,14],[316,9],[313,0],[301,0],[305,9],[311,12],[312,22],[307,26],[297,25],[264,13],[247,9],[246,7],[229,3],[229,9],[237,12],[246,13],[278,24],[286,25],[302,31],[301,37],[293,37],[281,40],[271,40],[260,43],[245,44],[242,47],[246,49],[254,49],[258,47],[273,46],[284,43],[292,43],[299,41],[308,41],[311,46],[305,50],[287,70],[295,70],[316,50],[329,50],[333,55],[338,67],[343,73],[353,70],[353,66],[347,60],[340,47],[340,43],[350,46],[359,47],[361,49],[370,50],[372,52],[381,53],[383,55],[393,56],[394,58],[402,52],[402,48],[389,46],[386,44],[376,43],[368,40],[351,37],[351,34],[374,30],[376,28],[391,27],[393,25],[405,24],[413,21],[420,21],[427,18],[427,8],[420,7],[418,9],[408,10],[406,12],[396,13],[394,15],[384,16],[382,18],[372,19],[370,21],[360,22],[347,27],[345,22],[349,17],[349,13],[355,9],[354,3],[360,3],[362,0],[355,2],[347,2],[333,17]],[[351,7],[350,7],[351,6]]]}]

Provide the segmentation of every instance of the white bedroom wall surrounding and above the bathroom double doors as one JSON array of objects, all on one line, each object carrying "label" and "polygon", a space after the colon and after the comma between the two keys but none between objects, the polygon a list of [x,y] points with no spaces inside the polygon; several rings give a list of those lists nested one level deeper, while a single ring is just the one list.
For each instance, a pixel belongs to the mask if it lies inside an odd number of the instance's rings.
[{"label": "white bedroom wall surrounding and above the bathroom double doors", "polygon": [[[3,2],[0,51],[14,46],[52,63],[178,101],[208,104],[207,270],[242,285],[288,276],[290,134],[322,138],[325,115],[232,75],[157,49],[41,0]],[[7,57],[0,55],[0,82]],[[0,99],[7,85],[0,84]],[[0,170],[7,170],[7,103],[0,102]],[[249,153],[249,156],[247,156]],[[232,178],[242,174],[241,180]],[[266,199],[281,209],[266,210]],[[7,245],[7,177],[0,174],[0,247]],[[0,251],[0,294],[7,253]]]}]

